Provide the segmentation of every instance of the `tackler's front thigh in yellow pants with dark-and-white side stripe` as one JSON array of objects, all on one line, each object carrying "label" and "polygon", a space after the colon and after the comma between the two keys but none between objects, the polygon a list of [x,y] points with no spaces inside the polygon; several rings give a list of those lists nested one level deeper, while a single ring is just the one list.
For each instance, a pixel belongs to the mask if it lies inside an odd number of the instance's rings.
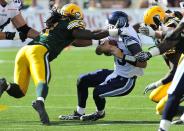
[{"label": "tackler's front thigh in yellow pants with dark-and-white side stripe", "polygon": [[40,82],[48,83],[51,74],[48,49],[42,45],[32,45],[29,47],[26,55],[30,63],[30,73],[35,85]]}]

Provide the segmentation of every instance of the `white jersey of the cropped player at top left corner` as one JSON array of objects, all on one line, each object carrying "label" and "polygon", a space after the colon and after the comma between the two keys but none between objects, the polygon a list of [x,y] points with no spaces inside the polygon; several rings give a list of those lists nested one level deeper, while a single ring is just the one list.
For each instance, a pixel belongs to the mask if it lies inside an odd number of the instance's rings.
[{"label": "white jersey of the cropped player at top left corner", "polygon": [[20,6],[20,0],[13,0],[11,3],[4,7],[0,4],[0,31],[2,31],[4,27],[10,23],[12,18],[20,13]]}]

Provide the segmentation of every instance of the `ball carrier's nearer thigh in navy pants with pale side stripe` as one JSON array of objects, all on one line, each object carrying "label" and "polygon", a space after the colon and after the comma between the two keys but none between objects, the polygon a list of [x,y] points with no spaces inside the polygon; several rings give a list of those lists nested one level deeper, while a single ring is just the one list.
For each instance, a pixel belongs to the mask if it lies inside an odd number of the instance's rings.
[{"label": "ball carrier's nearer thigh in navy pants with pale side stripe", "polygon": [[94,95],[104,97],[124,96],[129,94],[135,86],[136,78],[124,78],[117,76],[100,84],[94,89]]}]

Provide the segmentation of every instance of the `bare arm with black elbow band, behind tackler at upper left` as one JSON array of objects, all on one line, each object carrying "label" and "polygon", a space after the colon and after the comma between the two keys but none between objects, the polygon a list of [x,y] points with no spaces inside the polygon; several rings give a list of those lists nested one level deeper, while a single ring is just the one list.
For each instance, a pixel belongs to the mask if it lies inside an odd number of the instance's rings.
[{"label": "bare arm with black elbow band, behind tackler at upper left", "polygon": [[39,35],[39,32],[30,28],[24,18],[22,17],[21,12],[12,18],[12,23],[17,28],[19,32],[20,39],[25,41],[26,38],[36,38]]}]

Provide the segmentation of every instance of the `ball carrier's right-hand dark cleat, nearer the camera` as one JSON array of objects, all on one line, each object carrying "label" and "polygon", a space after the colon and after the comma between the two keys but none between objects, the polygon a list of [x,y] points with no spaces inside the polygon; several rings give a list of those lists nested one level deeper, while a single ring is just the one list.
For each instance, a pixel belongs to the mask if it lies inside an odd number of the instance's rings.
[{"label": "ball carrier's right-hand dark cleat, nearer the camera", "polygon": [[80,117],[80,120],[82,121],[96,121],[98,119],[102,119],[105,117],[105,112],[100,115],[98,112],[95,112],[93,114],[87,114]]}]

